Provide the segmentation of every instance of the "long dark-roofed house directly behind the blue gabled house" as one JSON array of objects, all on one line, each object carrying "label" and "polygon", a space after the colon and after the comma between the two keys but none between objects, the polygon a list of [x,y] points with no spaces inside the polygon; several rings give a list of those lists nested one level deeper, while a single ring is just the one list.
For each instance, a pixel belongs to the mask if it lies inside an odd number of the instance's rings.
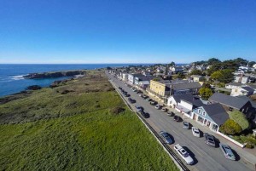
[{"label": "long dark-roofed house directly behind the blue gabled house", "polygon": [[239,96],[234,97],[226,94],[214,93],[209,98],[210,103],[219,103],[224,106],[225,111],[241,111],[247,118],[251,115],[253,111],[253,106],[249,100],[239,98]]}]

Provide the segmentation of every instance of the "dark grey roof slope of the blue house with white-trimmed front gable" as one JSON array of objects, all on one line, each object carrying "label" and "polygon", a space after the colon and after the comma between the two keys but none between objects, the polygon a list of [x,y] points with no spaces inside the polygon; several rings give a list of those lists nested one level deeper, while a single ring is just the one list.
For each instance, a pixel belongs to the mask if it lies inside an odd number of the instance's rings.
[{"label": "dark grey roof slope of the blue house with white-trimmed front gable", "polygon": [[215,103],[211,105],[204,105],[203,109],[207,112],[208,116],[218,125],[222,125],[228,120],[229,114],[224,110],[223,106]]}]

